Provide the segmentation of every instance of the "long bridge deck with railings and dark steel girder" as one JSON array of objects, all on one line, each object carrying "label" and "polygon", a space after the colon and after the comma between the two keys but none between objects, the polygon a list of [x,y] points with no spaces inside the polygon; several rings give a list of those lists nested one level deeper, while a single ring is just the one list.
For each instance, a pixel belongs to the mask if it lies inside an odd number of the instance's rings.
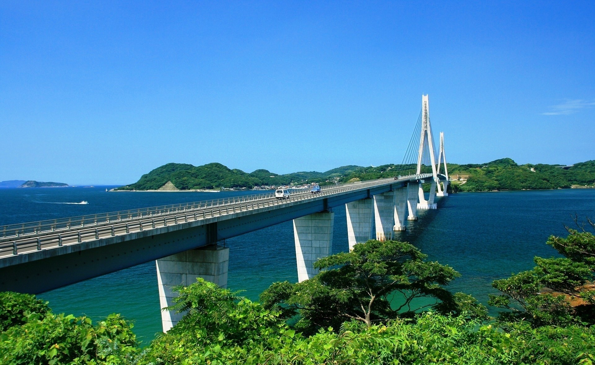
[{"label": "long bridge deck with railings and dark steel girder", "polygon": [[0,291],[42,293],[431,179],[324,186],[0,227]]}]

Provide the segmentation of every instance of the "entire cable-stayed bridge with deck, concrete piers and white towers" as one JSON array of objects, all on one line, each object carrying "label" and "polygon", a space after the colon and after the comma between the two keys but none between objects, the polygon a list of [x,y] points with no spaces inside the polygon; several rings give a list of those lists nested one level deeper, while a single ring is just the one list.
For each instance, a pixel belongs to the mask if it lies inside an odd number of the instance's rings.
[{"label": "entire cable-stayed bridge with deck, concrete piers and white towers", "polygon": [[[174,285],[196,277],[226,287],[229,248],[219,242],[289,220],[298,280],[307,280],[317,274],[312,264],[331,253],[333,208],[346,207],[350,249],[372,238],[390,240],[417,220],[417,210],[437,208],[436,196],[448,195],[443,142],[440,133],[434,150],[425,95],[395,177],[323,186],[320,193],[298,190],[284,199],[264,193],[0,227],[0,291],[37,294],[156,261],[165,307],[173,303]],[[180,318],[162,312],[164,331]]]}]

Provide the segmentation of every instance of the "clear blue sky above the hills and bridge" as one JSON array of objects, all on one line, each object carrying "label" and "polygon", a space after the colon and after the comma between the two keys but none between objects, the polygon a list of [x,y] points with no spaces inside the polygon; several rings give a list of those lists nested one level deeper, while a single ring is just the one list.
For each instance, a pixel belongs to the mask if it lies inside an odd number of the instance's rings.
[{"label": "clear blue sky above the hills and bridge", "polygon": [[0,180],[595,159],[594,1],[0,2]]}]

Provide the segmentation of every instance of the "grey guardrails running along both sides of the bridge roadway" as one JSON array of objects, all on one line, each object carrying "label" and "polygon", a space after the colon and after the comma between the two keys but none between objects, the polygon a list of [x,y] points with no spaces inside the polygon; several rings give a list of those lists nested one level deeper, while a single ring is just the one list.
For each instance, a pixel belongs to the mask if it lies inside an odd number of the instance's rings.
[{"label": "grey guardrails running along both sides of the bridge roadway", "polygon": [[[427,177],[426,175],[428,174],[405,176],[402,177],[402,179],[411,179],[411,177],[422,179]],[[274,198],[274,194],[265,193],[234,197],[242,199],[215,199],[211,201],[174,204],[162,207],[143,208],[139,210],[110,212],[103,215],[97,214],[74,218],[64,218],[62,221],[63,223],[68,223],[68,227],[59,229],[55,229],[55,224],[58,220],[23,223],[22,225],[17,224],[12,226],[19,226],[17,229],[22,229],[21,226],[24,225],[28,225],[28,227],[32,228],[42,228],[49,226],[50,229],[47,230],[46,228],[45,231],[34,231],[32,233],[26,234],[25,237],[22,235],[0,237],[0,257],[18,255],[19,253],[27,253],[35,250],[49,249],[64,245],[73,245],[89,240],[134,233],[146,229],[171,226],[172,224],[188,223],[191,221],[203,220],[220,215],[286,204],[287,202],[301,201],[314,197],[318,198],[321,195],[332,195],[333,193],[369,188],[371,186],[381,185],[381,183],[393,181],[394,179],[390,178],[323,186],[321,192],[317,193],[316,195],[312,195],[308,190],[306,192],[298,192],[297,194],[294,193],[286,199],[277,199]],[[260,197],[260,199],[255,199],[256,197]],[[222,204],[222,201],[227,201],[227,204]],[[176,210],[174,211],[174,209]],[[121,219],[121,217],[124,217],[125,214],[128,214],[126,215],[126,218]],[[87,224],[87,226],[85,226],[84,221],[87,220],[89,223],[89,219],[91,217],[93,223]],[[110,218],[115,217],[118,217],[118,219],[110,221]],[[73,222],[76,222],[76,224],[79,225],[72,226],[71,224]],[[2,230],[4,227],[0,227],[0,230]]]}]

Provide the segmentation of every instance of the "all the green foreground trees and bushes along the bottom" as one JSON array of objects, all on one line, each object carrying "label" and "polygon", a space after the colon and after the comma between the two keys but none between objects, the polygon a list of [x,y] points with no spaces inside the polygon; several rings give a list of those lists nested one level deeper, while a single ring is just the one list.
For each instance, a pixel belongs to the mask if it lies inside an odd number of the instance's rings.
[{"label": "all the green foreground trees and bushes along the bottom", "polygon": [[[504,309],[496,319],[444,288],[454,269],[409,243],[371,240],[321,259],[311,280],[271,285],[263,304],[201,278],[176,287],[167,310],[186,314],[144,349],[118,315],[93,325],[1,293],[0,363],[592,365],[595,236],[568,232],[547,241],[565,257],[536,258],[533,270],[494,281],[503,294],[490,304]],[[410,309],[419,297],[429,310]]]}]

